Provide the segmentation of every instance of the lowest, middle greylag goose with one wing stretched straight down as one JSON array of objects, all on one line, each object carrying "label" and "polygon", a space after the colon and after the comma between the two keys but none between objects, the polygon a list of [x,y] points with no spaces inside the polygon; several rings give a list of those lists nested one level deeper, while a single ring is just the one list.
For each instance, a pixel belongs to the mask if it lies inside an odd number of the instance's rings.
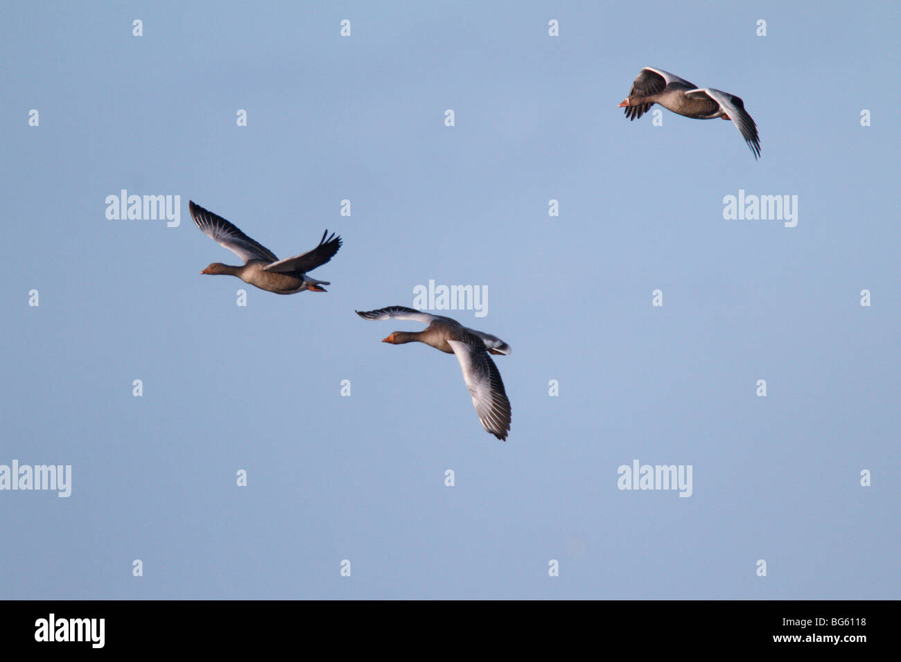
[{"label": "lowest, middle greylag goose with one wing stretched straight down", "polygon": [[507,399],[501,374],[488,356],[489,352],[509,354],[510,346],[504,340],[490,333],[468,329],[450,317],[430,315],[402,305],[355,313],[364,320],[412,320],[428,324],[423,331],[394,331],[382,342],[390,342],[392,345],[424,342],[447,354],[456,354],[463,369],[463,379],[472,395],[478,420],[497,439],[506,440],[512,418],[510,401]]}]

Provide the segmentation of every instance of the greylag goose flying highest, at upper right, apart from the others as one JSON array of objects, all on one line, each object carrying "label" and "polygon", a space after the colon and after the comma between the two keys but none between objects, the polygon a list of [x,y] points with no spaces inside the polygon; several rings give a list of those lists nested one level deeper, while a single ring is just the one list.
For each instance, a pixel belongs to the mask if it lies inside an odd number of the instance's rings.
[{"label": "greylag goose flying highest, at upper right, apart from the others", "polygon": [[637,120],[653,104],[660,104],[673,113],[696,120],[713,120],[716,117],[732,120],[742,132],[754,159],[760,156],[757,124],[744,109],[742,99],[735,95],[714,90],[713,87],[698,87],[663,69],[645,67],[635,78],[629,96],[617,107],[625,108],[625,116],[630,120]]}]

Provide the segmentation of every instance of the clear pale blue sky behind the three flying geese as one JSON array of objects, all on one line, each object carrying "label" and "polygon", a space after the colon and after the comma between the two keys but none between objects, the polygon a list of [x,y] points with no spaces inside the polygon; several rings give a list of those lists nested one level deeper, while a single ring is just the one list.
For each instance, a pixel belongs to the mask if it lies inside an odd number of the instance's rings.
[{"label": "clear pale blue sky behind the three flying geese", "polygon": [[[2,13],[0,464],[73,476],[0,492],[0,597],[901,594],[896,3]],[[741,96],[761,159],[626,120],[644,66]],[[180,226],[106,220],[123,188]],[[724,220],[739,189],[797,226]],[[280,258],[339,232],[328,293],[201,276],[238,260],[188,199]],[[455,358],[379,342],[421,325],[354,314],[429,279],[487,286],[448,314],[513,348],[505,443]],[[634,459],[694,493],[620,491]]]}]

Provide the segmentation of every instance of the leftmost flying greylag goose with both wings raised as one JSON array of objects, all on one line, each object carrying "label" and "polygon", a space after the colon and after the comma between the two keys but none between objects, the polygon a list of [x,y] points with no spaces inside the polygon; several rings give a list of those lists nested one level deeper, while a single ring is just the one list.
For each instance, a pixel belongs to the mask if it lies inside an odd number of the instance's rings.
[{"label": "leftmost flying greylag goose with both wings raised", "polygon": [[320,286],[332,285],[327,280],[308,278],[306,272],[328,262],[341,248],[341,237],[335,237],[334,233],[326,239],[328,231],[324,231],[322,240],[313,250],[293,258],[278,259],[275,253],[250,239],[222,216],[205,210],[193,201],[188,201],[187,206],[191,210],[191,218],[207,237],[244,260],[243,267],[214,262],[200,273],[237,276],[245,283],[277,295],[293,295],[304,290],[325,292]]}]

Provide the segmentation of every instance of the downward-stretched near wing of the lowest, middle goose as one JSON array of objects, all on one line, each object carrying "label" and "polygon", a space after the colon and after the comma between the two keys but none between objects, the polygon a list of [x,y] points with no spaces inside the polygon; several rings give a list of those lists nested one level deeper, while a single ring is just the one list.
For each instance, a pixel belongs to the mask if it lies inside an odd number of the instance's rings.
[{"label": "downward-stretched near wing of the lowest, middle goose", "polygon": [[448,340],[448,344],[460,361],[463,379],[472,395],[478,420],[497,439],[505,441],[513,415],[495,362],[485,349],[474,347],[468,342]]}]

